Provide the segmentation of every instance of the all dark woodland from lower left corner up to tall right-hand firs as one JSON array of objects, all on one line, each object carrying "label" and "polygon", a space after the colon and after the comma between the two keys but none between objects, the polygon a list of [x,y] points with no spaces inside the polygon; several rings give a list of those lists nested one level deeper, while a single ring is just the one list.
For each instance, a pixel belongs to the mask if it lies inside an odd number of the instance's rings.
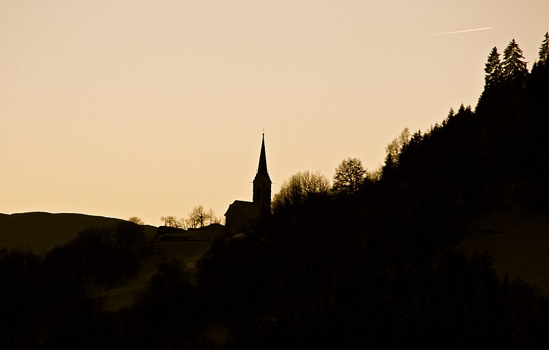
[{"label": "all dark woodland from lower left corner up to tall right-hand firs", "polygon": [[82,232],[43,260],[0,250],[0,347],[549,349],[547,297],[500,279],[489,252],[456,249],[467,218],[548,201],[548,55],[548,34],[531,71],[515,40],[494,48],[476,108],[403,132],[377,175],[349,158],[332,188],[290,177],[272,215],[213,242],[196,280],[163,262],[130,309],[105,312],[83,283],[135,273],[135,225],[115,240]]}]

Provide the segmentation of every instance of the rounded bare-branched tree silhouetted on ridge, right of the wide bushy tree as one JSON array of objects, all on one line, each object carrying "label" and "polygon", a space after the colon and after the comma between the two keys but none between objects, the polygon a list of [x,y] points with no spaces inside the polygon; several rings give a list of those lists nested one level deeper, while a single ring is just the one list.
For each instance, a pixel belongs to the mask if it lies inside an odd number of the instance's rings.
[{"label": "rounded bare-branched tree silhouetted on ridge, right of the wide bushy tree", "polygon": [[334,175],[332,190],[337,194],[350,194],[358,191],[366,181],[366,169],[358,158],[341,161]]}]

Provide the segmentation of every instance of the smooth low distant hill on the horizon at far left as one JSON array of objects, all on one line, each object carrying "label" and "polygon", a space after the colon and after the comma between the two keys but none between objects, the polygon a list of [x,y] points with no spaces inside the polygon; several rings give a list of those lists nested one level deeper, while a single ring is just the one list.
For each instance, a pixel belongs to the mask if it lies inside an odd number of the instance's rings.
[{"label": "smooth low distant hill on the horizon at far left", "polygon": [[[86,227],[109,227],[124,220],[104,216],[47,212],[0,214],[0,248],[31,249],[46,253],[73,239]],[[145,225],[145,233],[156,234],[156,227]]]}]

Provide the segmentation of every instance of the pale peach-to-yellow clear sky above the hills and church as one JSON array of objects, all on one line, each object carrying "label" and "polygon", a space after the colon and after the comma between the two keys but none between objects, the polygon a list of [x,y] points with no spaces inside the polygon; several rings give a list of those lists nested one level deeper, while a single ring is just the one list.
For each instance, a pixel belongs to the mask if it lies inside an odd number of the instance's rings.
[{"label": "pale peach-to-yellow clear sky above the hills and church", "polygon": [[[476,105],[549,1],[0,2],[0,212],[218,215],[297,171],[373,170],[404,127]],[[474,32],[467,29],[491,27]],[[449,32],[460,32],[432,36]]]}]

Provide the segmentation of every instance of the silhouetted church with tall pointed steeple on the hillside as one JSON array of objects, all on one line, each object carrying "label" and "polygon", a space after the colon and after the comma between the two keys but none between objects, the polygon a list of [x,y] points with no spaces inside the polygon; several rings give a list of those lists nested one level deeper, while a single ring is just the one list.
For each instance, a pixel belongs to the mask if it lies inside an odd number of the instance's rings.
[{"label": "silhouetted church with tall pointed steeple on the hillside", "polygon": [[270,214],[271,184],[267,171],[265,134],[263,134],[259,166],[253,179],[253,201],[234,201],[229,205],[225,212],[225,231],[228,236],[250,229],[259,217]]}]

